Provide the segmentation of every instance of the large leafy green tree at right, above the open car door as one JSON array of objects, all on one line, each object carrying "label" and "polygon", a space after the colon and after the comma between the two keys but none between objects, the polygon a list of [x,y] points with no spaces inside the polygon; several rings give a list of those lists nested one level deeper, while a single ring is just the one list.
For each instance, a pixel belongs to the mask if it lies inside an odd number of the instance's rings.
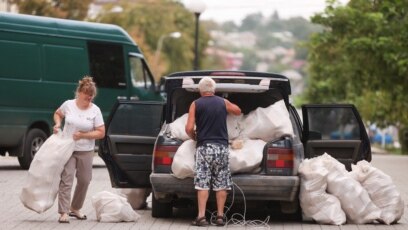
[{"label": "large leafy green tree at right, above the open car door", "polygon": [[354,103],[366,121],[408,127],[408,1],[327,1],[312,22],[306,100]]}]

